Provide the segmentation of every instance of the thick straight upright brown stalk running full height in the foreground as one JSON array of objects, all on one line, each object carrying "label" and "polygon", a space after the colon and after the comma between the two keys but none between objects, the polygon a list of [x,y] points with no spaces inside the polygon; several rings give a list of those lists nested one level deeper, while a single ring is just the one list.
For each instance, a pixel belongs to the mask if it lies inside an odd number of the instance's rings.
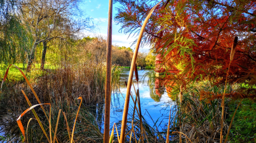
[{"label": "thick straight upright brown stalk running full height in the foreground", "polygon": [[109,139],[110,139],[112,7],[113,7],[113,0],[109,0],[108,40],[106,43],[105,118],[104,118],[104,138],[103,138],[104,143],[109,143]]}]

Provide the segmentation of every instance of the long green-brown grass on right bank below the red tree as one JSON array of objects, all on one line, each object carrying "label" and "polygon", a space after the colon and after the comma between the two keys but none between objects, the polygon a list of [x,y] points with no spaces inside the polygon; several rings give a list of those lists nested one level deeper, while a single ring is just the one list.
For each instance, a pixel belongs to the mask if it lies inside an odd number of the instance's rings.
[{"label": "long green-brown grass on right bank below the red tree", "polygon": [[[187,88],[183,92],[183,101],[178,102],[178,111],[175,126],[172,128],[174,140],[178,140],[179,133],[184,142],[220,142],[221,131],[221,99],[204,100],[200,99],[199,93],[208,91],[215,94],[223,90],[207,83],[197,87]],[[227,99],[229,100],[229,99]],[[226,112],[227,106],[224,111]],[[226,135],[228,124],[223,124],[223,134]],[[178,133],[178,134],[177,134]],[[189,139],[191,141],[189,141]]]}]

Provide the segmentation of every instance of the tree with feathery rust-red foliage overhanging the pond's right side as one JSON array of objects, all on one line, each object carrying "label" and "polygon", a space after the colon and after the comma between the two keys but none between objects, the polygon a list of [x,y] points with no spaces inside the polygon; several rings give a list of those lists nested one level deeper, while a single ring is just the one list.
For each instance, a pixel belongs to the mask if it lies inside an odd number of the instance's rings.
[{"label": "tree with feathery rust-red foliage overhanging the pond's right side", "polygon": [[[116,0],[121,6],[115,20],[121,30],[138,34],[156,1]],[[228,82],[246,83],[240,93],[256,95],[256,1],[173,0],[162,3],[144,32],[143,44],[153,45],[168,65],[182,65],[178,82],[210,80],[223,85],[234,37],[238,45],[230,64]],[[185,77],[185,78],[184,78]]]}]

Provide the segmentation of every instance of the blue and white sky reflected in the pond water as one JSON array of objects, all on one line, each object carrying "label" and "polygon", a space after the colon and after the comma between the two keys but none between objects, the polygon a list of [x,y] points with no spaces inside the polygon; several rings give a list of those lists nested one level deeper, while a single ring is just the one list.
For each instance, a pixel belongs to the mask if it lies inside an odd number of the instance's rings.
[{"label": "blue and white sky reflected in the pond water", "polygon": [[[124,81],[126,82],[128,81],[129,72],[130,71],[123,71],[120,78],[119,86],[120,86],[120,91],[124,98],[126,94],[126,86]],[[142,116],[147,120],[148,123],[150,123],[151,126],[154,125],[154,123],[152,122],[152,119],[154,120],[154,122],[158,120],[159,123],[163,120],[161,123],[161,126],[163,127],[165,124],[168,123],[170,106],[174,105],[175,102],[172,99],[170,99],[170,97],[168,97],[166,92],[164,92],[159,98],[159,96],[156,95],[156,92],[154,89],[155,85],[154,84],[151,86],[147,85],[148,77],[145,77],[143,82],[142,77],[146,72],[147,71],[145,70],[138,70],[139,85],[137,85],[135,75],[133,76],[133,82],[135,85],[136,92],[139,87]],[[132,85],[131,91],[135,100],[135,92],[134,92],[133,85]],[[111,119],[110,119],[111,120],[110,122],[112,123],[112,125],[113,123],[116,123],[122,120],[122,113],[123,113],[122,110],[124,105],[124,99],[122,95],[119,94],[118,89],[112,93]],[[134,108],[134,103],[132,98],[130,98],[129,112],[131,114],[132,114],[133,108]],[[151,117],[148,115],[147,112],[150,114]],[[128,117],[128,118],[131,118],[131,117]]]}]

